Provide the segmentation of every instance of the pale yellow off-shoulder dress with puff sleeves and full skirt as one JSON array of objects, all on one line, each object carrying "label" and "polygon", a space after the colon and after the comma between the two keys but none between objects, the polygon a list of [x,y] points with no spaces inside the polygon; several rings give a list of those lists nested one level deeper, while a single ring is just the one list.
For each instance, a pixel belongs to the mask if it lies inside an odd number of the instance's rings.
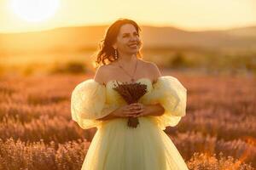
[{"label": "pale yellow off-shoulder dress with puff sleeves and full skirt", "polygon": [[162,116],[140,116],[137,128],[127,127],[126,118],[99,121],[125,100],[106,86],[88,79],[74,88],[71,97],[73,121],[87,129],[97,127],[82,166],[83,170],[186,170],[185,161],[172,140],[163,131],[176,126],[186,113],[187,90],[175,77],[162,76],[152,83],[148,78],[137,82],[147,85],[147,94],[138,102],[159,103]]}]

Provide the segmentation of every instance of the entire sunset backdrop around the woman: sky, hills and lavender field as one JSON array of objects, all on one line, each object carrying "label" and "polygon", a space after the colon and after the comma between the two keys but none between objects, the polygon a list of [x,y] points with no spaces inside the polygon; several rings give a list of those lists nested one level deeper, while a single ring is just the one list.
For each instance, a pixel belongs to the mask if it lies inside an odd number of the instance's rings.
[{"label": "entire sunset backdrop around the woman: sky, hills and lavender field", "polygon": [[188,89],[187,116],[165,132],[189,169],[253,169],[254,0],[0,0],[0,169],[81,167],[96,129],[71,120],[70,96],[119,18]]}]

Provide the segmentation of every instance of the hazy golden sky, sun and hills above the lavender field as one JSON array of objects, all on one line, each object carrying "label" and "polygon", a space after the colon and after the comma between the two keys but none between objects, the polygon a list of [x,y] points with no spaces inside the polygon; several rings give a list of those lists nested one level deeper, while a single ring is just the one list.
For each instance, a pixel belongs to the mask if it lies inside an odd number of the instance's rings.
[{"label": "hazy golden sky, sun and hills above the lavender field", "polygon": [[93,70],[98,43],[119,18],[142,26],[144,59],[160,67],[255,74],[253,0],[0,2],[1,74]]}]

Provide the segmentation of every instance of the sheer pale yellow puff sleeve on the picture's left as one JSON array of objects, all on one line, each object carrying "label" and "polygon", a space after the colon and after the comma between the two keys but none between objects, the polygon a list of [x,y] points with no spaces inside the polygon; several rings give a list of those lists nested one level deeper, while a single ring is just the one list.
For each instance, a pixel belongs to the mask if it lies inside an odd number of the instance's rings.
[{"label": "sheer pale yellow puff sleeve on the picture's left", "polygon": [[73,121],[87,129],[98,127],[102,121],[96,120],[107,116],[117,109],[106,101],[106,87],[94,79],[80,82],[71,95],[71,115]]}]

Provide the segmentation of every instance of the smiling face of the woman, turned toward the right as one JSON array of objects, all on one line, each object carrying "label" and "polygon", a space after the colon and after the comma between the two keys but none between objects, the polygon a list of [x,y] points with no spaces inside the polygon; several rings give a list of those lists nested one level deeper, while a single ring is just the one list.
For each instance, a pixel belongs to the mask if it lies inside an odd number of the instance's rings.
[{"label": "smiling face of the woman, turned toward the right", "polygon": [[119,34],[113,48],[117,48],[120,54],[137,54],[140,48],[140,37],[135,26],[125,24],[120,27]]}]

